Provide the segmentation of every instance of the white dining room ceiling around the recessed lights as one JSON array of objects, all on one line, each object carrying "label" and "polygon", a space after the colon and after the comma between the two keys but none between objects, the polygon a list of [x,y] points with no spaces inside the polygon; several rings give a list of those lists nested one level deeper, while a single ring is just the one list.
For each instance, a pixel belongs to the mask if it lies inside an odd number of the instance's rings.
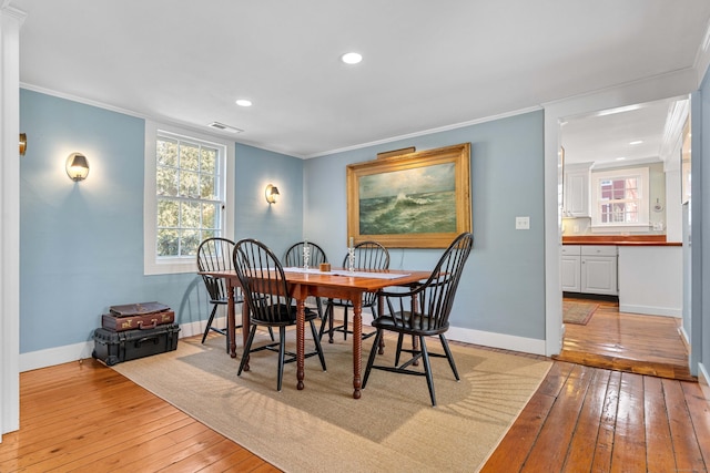
[{"label": "white dining room ceiling around the recessed lights", "polygon": [[298,157],[693,68],[710,18],[708,0],[443,4],[10,0],[22,86]]}]

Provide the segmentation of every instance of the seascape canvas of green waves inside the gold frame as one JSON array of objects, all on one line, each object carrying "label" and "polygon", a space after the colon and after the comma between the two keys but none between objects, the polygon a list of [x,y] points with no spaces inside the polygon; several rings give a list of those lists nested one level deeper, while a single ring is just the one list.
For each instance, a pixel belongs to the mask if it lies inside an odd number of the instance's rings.
[{"label": "seascape canvas of green waves inside the gold frame", "polygon": [[359,179],[359,234],[456,232],[454,163]]}]

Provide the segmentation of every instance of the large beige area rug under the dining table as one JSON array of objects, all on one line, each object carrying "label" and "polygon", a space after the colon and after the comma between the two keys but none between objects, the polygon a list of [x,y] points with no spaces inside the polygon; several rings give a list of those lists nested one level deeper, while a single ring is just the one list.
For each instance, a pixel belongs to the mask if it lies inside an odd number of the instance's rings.
[{"label": "large beige area rug under the dining table", "polygon": [[[394,346],[388,341],[381,362],[393,360]],[[363,343],[363,370],[371,347],[372,339]],[[429,342],[429,351],[438,347]],[[424,377],[378,370],[362,398],[353,399],[349,339],[324,343],[327,372],[317,357],[306,359],[303,391],[296,390],[295,363],[285,366],[283,390],[276,391],[276,353],[270,351],[252,354],[251,371],[237,378],[237,360],[225,353],[221,337],[205,345],[181,340],[175,351],[113,369],[286,472],[473,472],[551,363],[455,345],[452,350],[462,380],[446,359],[432,360],[437,408]]]}]

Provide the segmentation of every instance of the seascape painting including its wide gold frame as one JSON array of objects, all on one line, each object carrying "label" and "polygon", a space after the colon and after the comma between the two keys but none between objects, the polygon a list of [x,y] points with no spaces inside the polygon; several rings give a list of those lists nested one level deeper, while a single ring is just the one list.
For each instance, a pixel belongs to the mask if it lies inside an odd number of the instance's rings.
[{"label": "seascape painting including its wide gold frame", "polygon": [[355,244],[446,248],[463,232],[471,232],[470,143],[347,166]]}]

